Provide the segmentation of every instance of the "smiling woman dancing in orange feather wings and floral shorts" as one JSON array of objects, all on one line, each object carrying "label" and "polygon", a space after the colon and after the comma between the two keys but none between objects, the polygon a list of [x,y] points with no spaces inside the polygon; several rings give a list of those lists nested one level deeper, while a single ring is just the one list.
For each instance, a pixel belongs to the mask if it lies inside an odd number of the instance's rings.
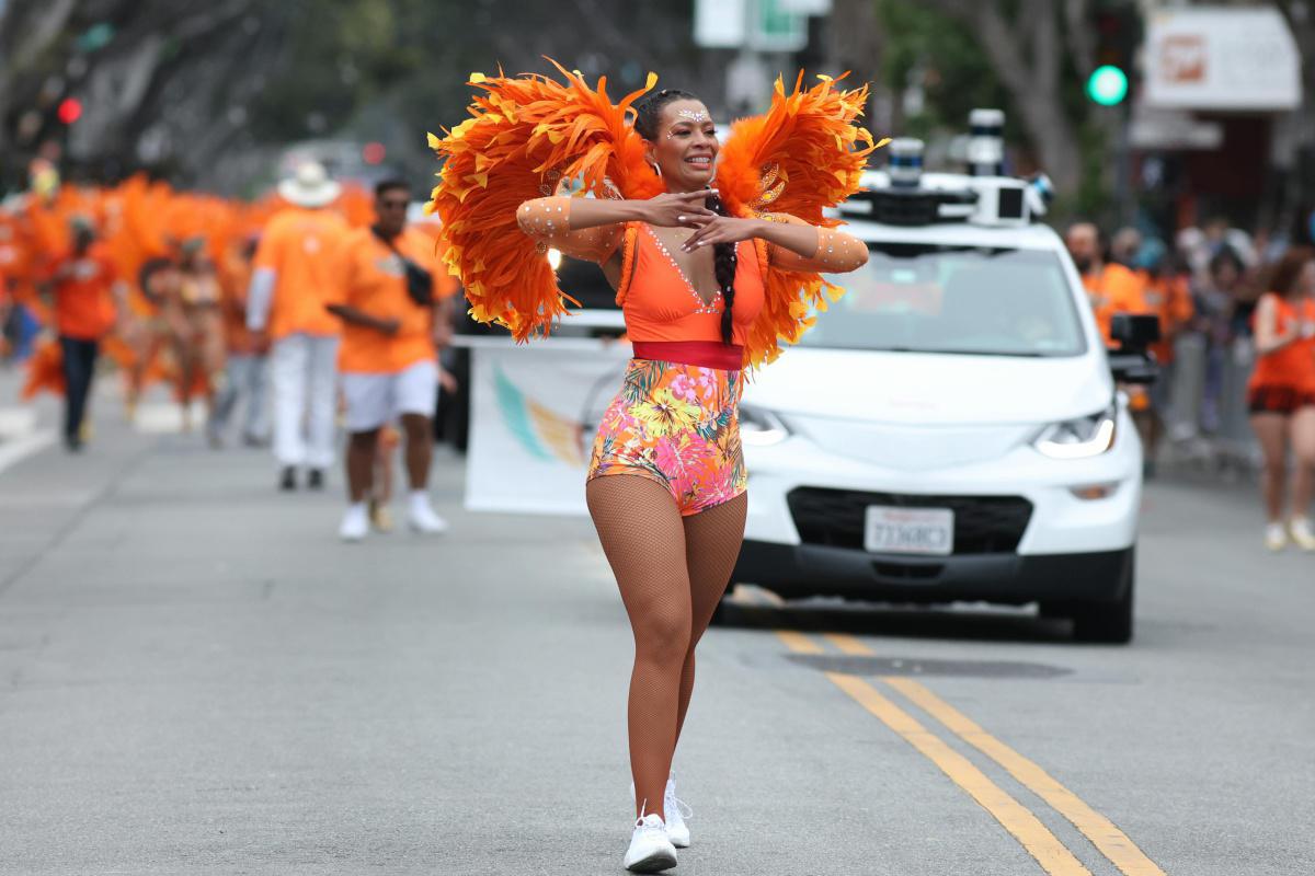
[{"label": "smiling woman dancing in orange feather wings and floral shorts", "polygon": [[[658,92],[631,123],[655,77],[613,106],[604,83],[592,91],[559,70],[565,87],[472,77],[488,95],[431,139],[444,158],[431,206],[472,315],[517,339],[565,311],[548,247],[598,263],[617,288],[635,357],[596,436],[586,499],[635,640],[636,822],[623,864],[656,872],[689,843],[672,755],[694,647],[744,536],[743,369],[775,359],[810,307],[838,294],[818,272],[867,261],[867,247],[831,230],[822,209],[857,189],[874,146],[852,123],[867,89],[830,79],[803,91],[801,75],[789,95],[777,83],[771,110],[736,122],[719,147],[692,95]],[[596,197],[555,197],[559,180]]]}]

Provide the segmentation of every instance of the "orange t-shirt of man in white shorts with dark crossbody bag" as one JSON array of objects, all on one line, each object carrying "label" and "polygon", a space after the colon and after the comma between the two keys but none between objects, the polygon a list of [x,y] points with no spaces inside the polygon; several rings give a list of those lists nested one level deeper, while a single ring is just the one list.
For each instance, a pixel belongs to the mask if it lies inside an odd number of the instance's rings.
[{"label": "orange t-shirt of man in white shorts with dark crossbody bag", "polygon": [[[435,299],[442,294],[442,267],[434,257],[434,240],[416,229],[405,229],[393,246],[429,272]],[[422,307],[406,294],[401,259],[370,229],[356,229],[341,250],[339,288],[333,303],[355,307],[376,319],[396,319],[396,335],[343,322],[338,368],[363,374],[396,374],[416,362],[433,360],[434,309]]]}]

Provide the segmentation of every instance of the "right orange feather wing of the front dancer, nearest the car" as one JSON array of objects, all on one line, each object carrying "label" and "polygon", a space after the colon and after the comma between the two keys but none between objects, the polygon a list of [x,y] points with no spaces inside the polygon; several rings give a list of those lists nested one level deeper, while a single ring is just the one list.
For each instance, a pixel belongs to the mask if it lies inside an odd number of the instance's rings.
[{"label": "right orange feather wing of the front dancer, nearest the car", "polygon": [[[731,126],[717,164],[717,188],[735,215],[788,213],[810,225],[840,225],[823,210],[859,190],[868,156],[886,141],[873,142],[856,123],[867,85],[844,91],[835,79],[819,79],[805,89],[801,72],[790,93],[778,79],[771,109]],[[810,313],[825,310],[844,292],[821,274],[771,265],[764,282],[763,311],[746,340],[746,366],[780,356],[782,341],[796,343],[813,324]]]}]

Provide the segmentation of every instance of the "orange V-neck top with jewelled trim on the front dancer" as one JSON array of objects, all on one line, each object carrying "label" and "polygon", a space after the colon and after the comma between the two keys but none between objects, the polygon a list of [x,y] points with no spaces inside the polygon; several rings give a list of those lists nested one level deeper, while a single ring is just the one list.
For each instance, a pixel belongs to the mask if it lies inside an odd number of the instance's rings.
[{"label": "orange V-neck top with jewelled trim on the front dancer", "polygon": [[[744,344],[763,310],[763,253],[751,240],[735,244],[735,302],[731,310],[732,343]],[[626,317],[626,335],[635,343],[722,343],[721,292],[710,302],[690,284],[651,227],[629,223],[622,251],[617,302]]]}]

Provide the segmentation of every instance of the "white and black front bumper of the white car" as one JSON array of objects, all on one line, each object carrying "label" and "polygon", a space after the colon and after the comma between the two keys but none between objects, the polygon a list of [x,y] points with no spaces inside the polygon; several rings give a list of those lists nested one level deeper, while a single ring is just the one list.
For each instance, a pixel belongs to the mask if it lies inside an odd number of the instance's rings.
[{"label": "white and black front bumper of the white car", "polygon": [[[746,542],[735,580],[782,596],[1003,603],[1118,599],[1130,578],[1124,573],[1141,503],[1141,447],[1126,411],[1119,427],[1115,445],[1088,460],[1052,460],[1024,444],[994,460],[920,470],[827,453],[798,436],[752,448]],[[1095,485],[1107,487],[1109,495],[1091,499],[1076,493]],[[1007,496],[1026,500],[1031,514],[1015,544],[1003,550],[874,554],[855,544],[853,511],[847,512],[847,544],[819,537],[815,523],[809,537],[801,537],[801,528],[809,527],[801,527],[805,521],[790,506],[792,493],[800,490],[888,494],[910,507],[938,507],[932,496]]]}]

